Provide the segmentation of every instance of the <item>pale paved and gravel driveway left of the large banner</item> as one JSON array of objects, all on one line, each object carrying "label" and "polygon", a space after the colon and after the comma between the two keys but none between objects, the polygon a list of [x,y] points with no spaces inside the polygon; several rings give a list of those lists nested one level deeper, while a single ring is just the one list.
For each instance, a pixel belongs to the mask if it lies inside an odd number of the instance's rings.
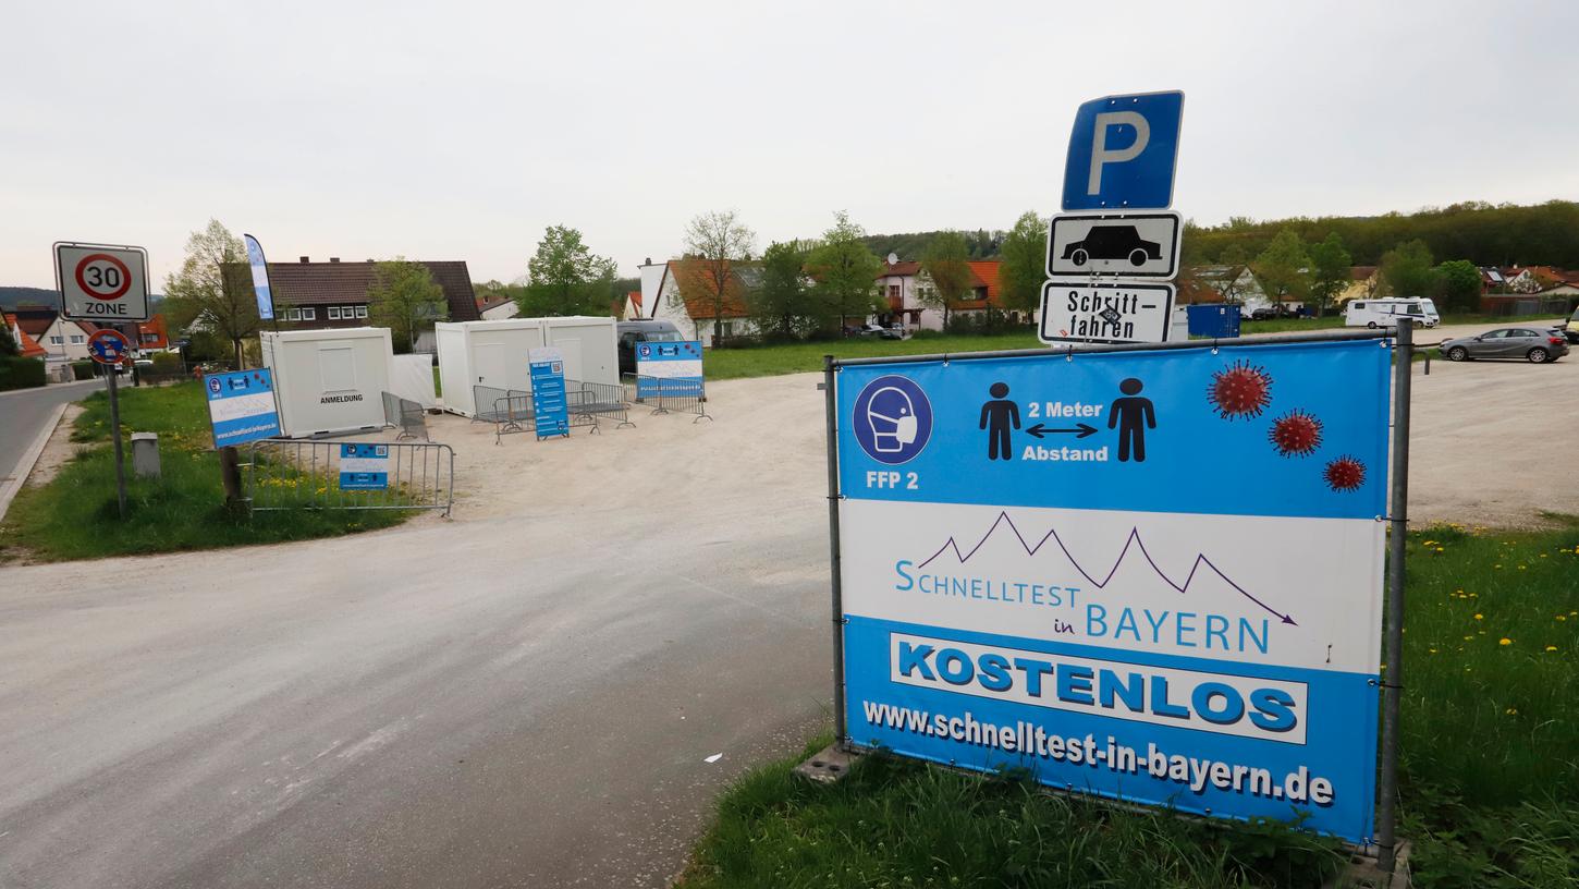
[{"label": "pale paved and gravel driveway left of the large banner", "polygon": [[455,521],[0,568],[0,886],[663,886],[831,696],[821,425],[720,390],[441,426],[505,480]]}]

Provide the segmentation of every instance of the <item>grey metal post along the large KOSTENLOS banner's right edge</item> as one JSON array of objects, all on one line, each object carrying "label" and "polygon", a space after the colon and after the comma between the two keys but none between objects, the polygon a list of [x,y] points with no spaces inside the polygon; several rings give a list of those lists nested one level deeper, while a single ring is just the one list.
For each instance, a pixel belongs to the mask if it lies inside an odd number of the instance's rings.
[{"label": "grey metal post along the large KOSTENLOS banner's right edge", "polygon": [[1415,324],[1397,322],[1393,351],[1393,497],[1388,521],[1386,674],[1382,676],[1382,778],[1377,812],[1377,867],[1393,873],[1397,845],[1397,711],[1404,692],[1404,546],[1408,543],[1408,385]]}]

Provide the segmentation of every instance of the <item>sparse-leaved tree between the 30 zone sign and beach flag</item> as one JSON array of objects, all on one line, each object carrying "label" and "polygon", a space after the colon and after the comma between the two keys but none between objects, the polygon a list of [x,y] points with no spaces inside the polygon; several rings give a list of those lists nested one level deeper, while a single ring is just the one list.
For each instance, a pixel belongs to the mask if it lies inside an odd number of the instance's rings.
[{"label": "sparse-leaved tree between the 30 zone sign and beach flag", "polygon": [[235,366],[242,366],[242,343],[262,322],[246,248],[219,219],[208,219],[186,238],[186,259],[164,279],[164,311],[180,330],[205,330],[229,341]]}]

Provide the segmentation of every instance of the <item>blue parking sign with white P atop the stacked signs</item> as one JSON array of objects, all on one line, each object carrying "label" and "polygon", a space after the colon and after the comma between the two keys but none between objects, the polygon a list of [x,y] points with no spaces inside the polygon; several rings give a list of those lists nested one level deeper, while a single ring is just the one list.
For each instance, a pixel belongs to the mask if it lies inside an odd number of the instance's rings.
[{"label": "blue parking sign with white P atop the stacked signs", "polygon": [[1181,92],[1082,104],[1064,163],[1064,210],[1172,207],[1183,115]]}]

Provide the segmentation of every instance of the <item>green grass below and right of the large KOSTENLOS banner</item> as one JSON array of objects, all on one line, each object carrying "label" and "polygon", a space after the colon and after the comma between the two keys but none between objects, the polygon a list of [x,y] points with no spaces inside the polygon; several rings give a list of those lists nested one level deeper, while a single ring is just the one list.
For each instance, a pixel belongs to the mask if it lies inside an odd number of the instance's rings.
[{"label": "green grass below and right of the large KOSTENLOS banner", "polygon": [[[1415,886],[1579,886],[1579,520],[1551,518],[1563,527],[1410,535],[1401,835]],[[1277,824],[887,756],[834,786],[794,778],[826,742],[725,793],[684,886],[1315,887],[1341,864],[1334,842]]]}]

